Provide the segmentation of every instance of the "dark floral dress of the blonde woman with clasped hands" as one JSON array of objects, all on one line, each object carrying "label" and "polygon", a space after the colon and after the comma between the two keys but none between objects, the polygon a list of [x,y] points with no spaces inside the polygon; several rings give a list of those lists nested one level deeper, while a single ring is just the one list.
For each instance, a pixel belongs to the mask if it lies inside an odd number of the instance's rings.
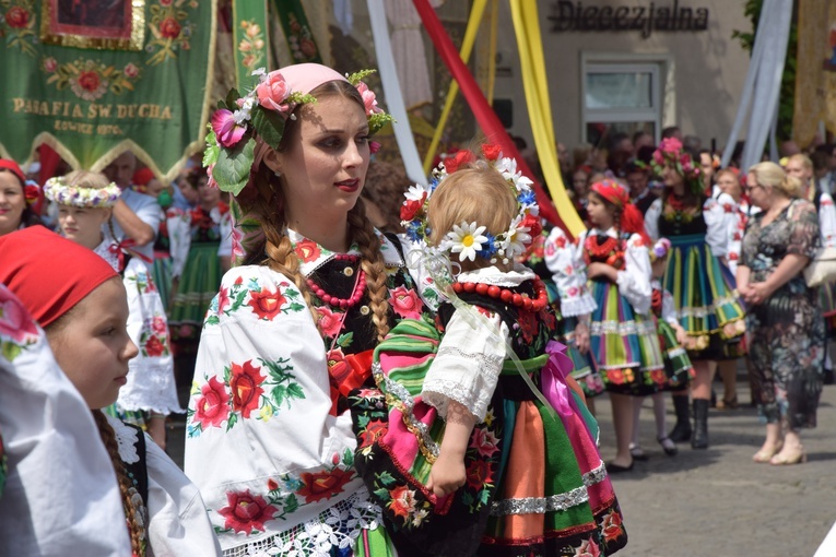
[{"label": "dark floral dress of the blonde woman with clasped hands", "polygon": [[[765,281],[789,254],[813,258],[821,246],[815,208],[794,200],[772,223],[752,217],[743,238],[750,283]],[[790,429],[815,427],[822,392],[825,331],[816,288],[802,273],[749,308],[751,377],[761,415]]]}]

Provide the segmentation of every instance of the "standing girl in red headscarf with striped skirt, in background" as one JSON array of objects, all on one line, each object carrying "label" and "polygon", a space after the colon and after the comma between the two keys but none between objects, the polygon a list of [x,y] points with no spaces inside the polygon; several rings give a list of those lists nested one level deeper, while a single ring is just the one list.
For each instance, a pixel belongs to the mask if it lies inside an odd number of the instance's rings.
[{"label": "standing girl in red headscarf with striped skirt, in background", "polygon": [[664,363],[649,316],[650,257],[641,213],[626,188],[614,180],[591,186],[587,212],[591,227],[575,247],[573,269],[584,273],[597,303],[590,323],[590,349],[610,392],[616,455],[611,473],[633,467],[633,399],[659,390]]}]

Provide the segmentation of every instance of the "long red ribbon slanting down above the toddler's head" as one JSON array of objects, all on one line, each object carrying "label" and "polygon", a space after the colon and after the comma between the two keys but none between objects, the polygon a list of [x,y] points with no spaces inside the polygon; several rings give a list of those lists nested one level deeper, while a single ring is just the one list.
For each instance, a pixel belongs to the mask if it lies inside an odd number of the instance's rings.
[{"label": "long red ribbon slanting down above the toddler's head", "polygon": [[461,93],[468,100],[470,109],[473,110],[473,115],[475,116],[479,126],[482,128],[487,142],[498,144],[505,156],[510,156],[517,159],[518,169],[534,182],[534,193],[537,194],[537,201],[540,204],[540,215],[546,221],[565,228],[552,201],[543,191],[542,186],[534,178],[533,173],[531,173],[531,169],[528,167],[525,159],[520,156],[517,146],[514,144],[514,141],[511,141],[508,132],[505,131],[499,118],[494,114],[493,108],[491,108],[487,99],[482,94],[473,75],[471,75],[467,66],[464,66],[464,62],[461,61],[461,57],[456,50],[456,46],[444,29],[441,22],[438,21],[438,16],[429,5],[429,2],[427,0],[413,0],[413,3],[415,4],[419,15],[421,15],[424,28],[438,51],[438,56],[444,60],[444,63],[452,74],[452,78],[459,82]]}]

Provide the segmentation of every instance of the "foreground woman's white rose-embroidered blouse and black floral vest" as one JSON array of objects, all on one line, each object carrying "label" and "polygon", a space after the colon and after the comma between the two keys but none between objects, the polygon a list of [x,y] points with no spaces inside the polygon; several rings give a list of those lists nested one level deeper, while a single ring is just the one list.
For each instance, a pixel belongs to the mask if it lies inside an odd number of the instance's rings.
[{"label": "foreground woman's white rose-embroidered blouse and black floral vest", "polygon": [[[299,272],[351,298],[360,250],[334,253],[289,230]],[[421,318],[398,248],[381,251],[390,320]],[[198,349],[185,470],[200,487],[225,555],[329,556],[378,529],[354,467],[350,390],[370,381],[377,344],[368,289],[348,310],[266,265],[228,271]],[[311,315],[316,312],[316,320]]]}]

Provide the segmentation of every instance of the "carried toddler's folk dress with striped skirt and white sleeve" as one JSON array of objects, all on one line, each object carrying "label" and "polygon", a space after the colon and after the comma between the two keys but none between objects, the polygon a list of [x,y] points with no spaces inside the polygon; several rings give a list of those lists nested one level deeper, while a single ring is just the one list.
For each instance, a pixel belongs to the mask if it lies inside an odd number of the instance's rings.
[{"label": "carried toddler's folk dress with striped skirt and white sleeve", "polygon": [[[533,297],[533,277],[521,266],[509,273],[490,268],[458,281]],[[626,533],[596,448],[597,424],[563,376],[554,381],[552,375],[555,360],[564,374],[572,366],[549,345],[554,316],[547,307],[520,310],[475,292],[460,298],[470,306],[444,304],[438,332],[405,320],[376,351],[376,379],[396,408],[388,424],[375,416],[374,404],[358,405],[357,467],[384,508],[399,555],[616,552]],[[553,396],[554,390],[563,395]],[[451,400],[480,423],[464,457],[466,485],[436,498],[425,485]]]}]

